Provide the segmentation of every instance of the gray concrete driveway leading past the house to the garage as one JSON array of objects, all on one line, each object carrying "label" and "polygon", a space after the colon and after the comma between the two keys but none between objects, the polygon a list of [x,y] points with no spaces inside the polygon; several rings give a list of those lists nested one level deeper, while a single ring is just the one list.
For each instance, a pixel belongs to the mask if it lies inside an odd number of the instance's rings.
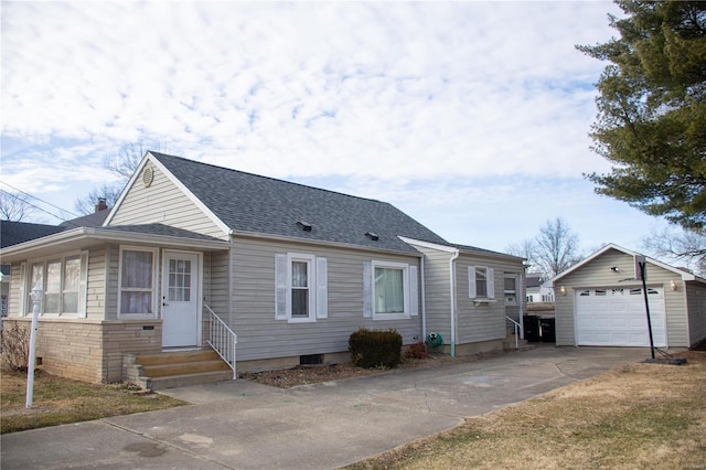
[{"label": "gray concrete driveway leading past the house to the garage", "polygon": [[332,469],[639,362],[649,349],[538,348],[279,389],[172,388],[193,405],[4,435],[9,469]]}]

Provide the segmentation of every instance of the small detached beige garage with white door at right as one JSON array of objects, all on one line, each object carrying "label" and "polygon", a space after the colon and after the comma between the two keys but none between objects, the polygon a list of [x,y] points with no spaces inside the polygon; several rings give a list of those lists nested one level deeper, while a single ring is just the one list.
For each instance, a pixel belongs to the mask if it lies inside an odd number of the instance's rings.
[{"label": "small detached beige garage with white door at right", "polygon": [[[557,345],[650,345],[635,256],[610,244],[552,279]],[[654,345],[706,340],[706,280],[651,258],[645,279]]]}]

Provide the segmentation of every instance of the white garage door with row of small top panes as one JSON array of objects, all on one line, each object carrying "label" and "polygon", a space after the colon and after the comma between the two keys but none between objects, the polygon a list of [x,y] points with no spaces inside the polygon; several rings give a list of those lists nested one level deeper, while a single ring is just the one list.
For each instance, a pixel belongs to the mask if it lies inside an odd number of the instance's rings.
[{"label": "white garage door with row of small top panes", "polygon": [[[666,346],[664,289],[648,287],[652,337]],[[648,316],[642,289],[597,288],[576,292],[576,334],[579,345],[649,346]]]}]

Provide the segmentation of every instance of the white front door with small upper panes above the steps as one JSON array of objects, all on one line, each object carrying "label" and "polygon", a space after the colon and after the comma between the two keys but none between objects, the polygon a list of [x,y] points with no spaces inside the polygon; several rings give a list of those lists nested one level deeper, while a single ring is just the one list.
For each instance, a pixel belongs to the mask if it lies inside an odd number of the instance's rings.
[{"label": "white front door with small upper panes above the steps", "polygon": [[162,281],[162,346],[199,345],[199,255],[167,252]]}]

